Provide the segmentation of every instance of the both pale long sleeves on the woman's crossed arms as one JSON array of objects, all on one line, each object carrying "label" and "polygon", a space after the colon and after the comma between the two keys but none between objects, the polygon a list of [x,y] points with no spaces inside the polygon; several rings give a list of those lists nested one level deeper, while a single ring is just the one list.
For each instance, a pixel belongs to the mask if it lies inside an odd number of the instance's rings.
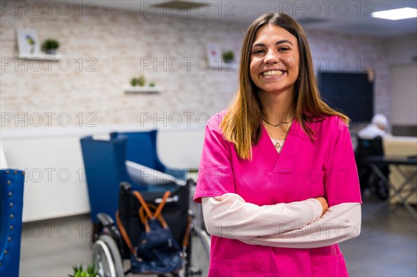
[{"label": "both pale long sleeves on the woman's crossed arms", "polygon": [[361,230],[360,203],[334,205],[321,216],[317,199],[259,206],[227,193],[202,198],[202,207],[208,233],[247,244],[316,248],[357,237]]}]

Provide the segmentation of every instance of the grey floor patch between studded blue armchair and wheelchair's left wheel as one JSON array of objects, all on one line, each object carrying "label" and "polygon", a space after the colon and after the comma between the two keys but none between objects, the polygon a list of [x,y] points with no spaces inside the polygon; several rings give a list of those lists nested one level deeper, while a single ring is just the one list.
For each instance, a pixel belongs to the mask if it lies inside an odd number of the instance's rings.
[{"label": "grey floor patch between studded blue armchair and wheelchair's left wheel", "polygon": [[80,215],[22,226],[20,276],[67,276],[91,261],[90,217]]}]

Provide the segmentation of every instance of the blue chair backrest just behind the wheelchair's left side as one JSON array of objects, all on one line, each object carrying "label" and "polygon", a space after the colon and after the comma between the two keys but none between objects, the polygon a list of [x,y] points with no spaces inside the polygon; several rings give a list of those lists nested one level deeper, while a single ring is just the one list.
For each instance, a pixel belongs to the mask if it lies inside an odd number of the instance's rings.
[{"label": "blue chair backrest just behind the wheelchair's left side", "polygon": [[105,212],[115,219],[120,182],[133,183],[126,165],[126,139],[94,140],[81,138],[81,149],[90,199],[91,220],[98,222],[97,213]]}]

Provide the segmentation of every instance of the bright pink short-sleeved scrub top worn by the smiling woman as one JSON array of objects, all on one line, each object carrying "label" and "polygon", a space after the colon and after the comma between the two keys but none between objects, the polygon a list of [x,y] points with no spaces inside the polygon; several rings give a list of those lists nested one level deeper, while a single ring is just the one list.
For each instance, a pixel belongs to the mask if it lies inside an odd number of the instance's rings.
[{"label": "bright pink short-sleeved scrub top worn by the smiling woman", "polygon": [[[242,160],[219,128],[225,114],[213,116],[206,126],[195,201],[235,193],[256,205],[318,196],[325,196],[329,207],[361,203],[350,133],[339,117],[311,123],[313,142],[293,121],[281,153],[263,128],[258,144],[252,146],[252,160]],[[215,235],[216,230],[209,232],[208,276],[348,276],[337,244],[316,249],[256,246],[227,238],[232,229],[222,237]]]}]

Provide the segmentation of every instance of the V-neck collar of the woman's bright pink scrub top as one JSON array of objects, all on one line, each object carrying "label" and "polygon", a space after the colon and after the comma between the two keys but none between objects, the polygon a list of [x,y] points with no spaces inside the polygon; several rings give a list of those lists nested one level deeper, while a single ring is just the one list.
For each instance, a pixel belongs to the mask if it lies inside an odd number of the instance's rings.
[{"label": "V-neck collar of the woman's bright pink scrub top", "polygon": [[269,165],[274,165],[272,173],[278,174],[292,169],[295,159],[305,140],[309,140],[309,137],[302,131],[300,123],[294,119],[293,124],[291,124],[290,129],[288,130],[284,146],[282,146],[281,152],[278,153],[265,126],[262,126],[262,135],[259,140],[259,146],[263,153],[263,157],[267,159],[266,162],[268,162]]}]

